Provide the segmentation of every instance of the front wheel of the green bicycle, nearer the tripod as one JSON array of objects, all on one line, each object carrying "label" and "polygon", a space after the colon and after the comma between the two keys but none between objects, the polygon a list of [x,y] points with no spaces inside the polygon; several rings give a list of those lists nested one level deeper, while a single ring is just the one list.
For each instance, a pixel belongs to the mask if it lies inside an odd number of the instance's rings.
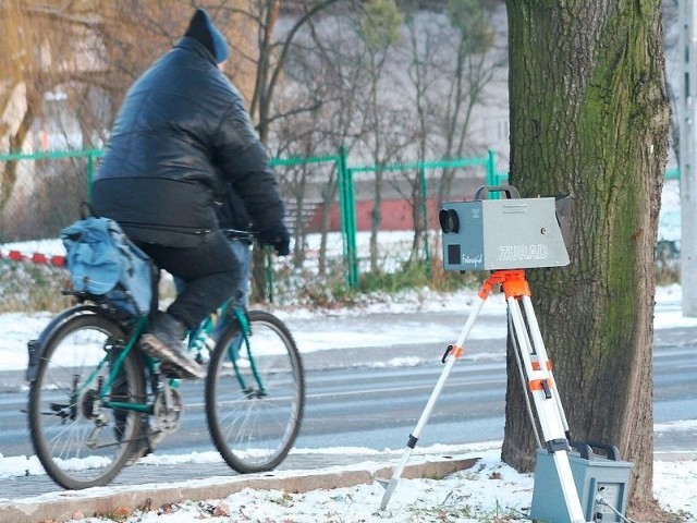
[{"label": "front wheel of the green bicycle, nearer the tripod", "polygon": [[241,474],[277,467],[303,418],[303,362],[288,327],[264,311],[248,313],[249,336],[222,336],[208,366],[206,417],[216,448]]}]

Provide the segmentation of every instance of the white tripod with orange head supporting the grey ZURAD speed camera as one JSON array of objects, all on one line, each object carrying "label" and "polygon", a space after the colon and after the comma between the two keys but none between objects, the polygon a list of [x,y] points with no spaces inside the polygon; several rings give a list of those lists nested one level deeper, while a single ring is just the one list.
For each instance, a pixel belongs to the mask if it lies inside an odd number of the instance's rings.
[{"label": "white tripod with orange head supporting the grey ZURAD speed camera", "polygon": [[[535,403],[547,450],[553,455],[554,466],[559,474],[570,521],[573,523],[583,523],[586,519],[568,462],[568,451],[571,450],[568,445],[568,423],[566,422],[559,392],[557,391],[552,366],[547,356],[547,350],[545,349],[535,311],[533,309],[530,290],[524,270],[497,270],[491,273],[479,289],[477,301],[457,341],[448,346],[443,356],[445,366],[416,424],[416,428],[409,435],[402,460],[386,486],[380,510],[383,510],[390,501],[400,477],[404,472],[406,462],[414,447],[416,447],[421,430],[426,426],[426,423],[428,423],[436,401],[445,385],[445,380],[455,362],[463,355],[465,340],[494,285],[501,285],[505,295],[511,323],[511,333],[514,336],[514,345],[517,352],[516,360],[521,367],[521,374],[524,374],[525,379],[527,379],[527,387]],[[523,308],[521,308],[521,304]],[[535,423],[533,426],[535,427]]]}]

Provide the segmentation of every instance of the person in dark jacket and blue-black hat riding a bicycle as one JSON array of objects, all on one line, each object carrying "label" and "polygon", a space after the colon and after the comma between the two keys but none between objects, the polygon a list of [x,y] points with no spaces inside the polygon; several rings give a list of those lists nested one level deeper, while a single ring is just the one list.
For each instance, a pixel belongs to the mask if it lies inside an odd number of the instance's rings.
[{"label": "person in dark jacket and blue-black hat riding a bicycle", "polygon": [[198,9],[184,36],[129,89],[91,187],[97,214],[121,223],[159,268],[185,283],[142,338],[142,349],[181,378],[205,375],[186,353],[186,331],[233,295],[241,278],[216,215],[227,184],[244,202],[259,242],[289,254],[268,154],[218,66],[228,53]]}]

